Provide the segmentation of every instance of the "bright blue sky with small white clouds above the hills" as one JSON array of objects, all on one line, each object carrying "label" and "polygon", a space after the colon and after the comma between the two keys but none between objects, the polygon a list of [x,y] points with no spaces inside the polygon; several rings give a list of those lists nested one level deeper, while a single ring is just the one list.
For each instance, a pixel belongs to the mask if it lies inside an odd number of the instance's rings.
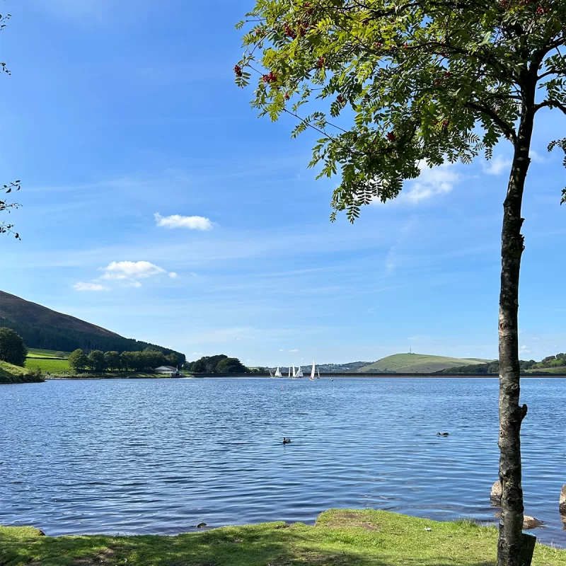
[{"label": "bright blue sky with small white clouds above the hills", "polygon": [[[233,84],[251,1],[6,0],[0,287],[127,337],[247,364],[497,356],[510,146],[330,224],[313,137]],[[521,358],[566,350],[565,170],[541,111],[524,204]],[[158,215],[158,216],[156,216]],[[179,217],[175,217],[179,216]],[[197,216],[197,219],[184,217]],[[139,263],[144,262],[144,263]],[[6,267],[8,266],[8,267]]]}]

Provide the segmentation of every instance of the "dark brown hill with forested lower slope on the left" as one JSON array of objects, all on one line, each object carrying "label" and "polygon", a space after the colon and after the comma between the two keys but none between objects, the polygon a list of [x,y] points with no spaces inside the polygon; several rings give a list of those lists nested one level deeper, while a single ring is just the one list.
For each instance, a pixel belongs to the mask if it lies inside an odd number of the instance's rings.
[{"label": "dark brown hill with forested lower slope on the left", "polygon": [[178,354],[185,359],[184,354],[175,350],[125,338],[96,324],[52,311],[5,291],[0,291],[0,326],[13,328],[23,337],[26,346],[40,350],[72,352],[82,348],[103,352],[136,352],[151,348],[164,354]]}]

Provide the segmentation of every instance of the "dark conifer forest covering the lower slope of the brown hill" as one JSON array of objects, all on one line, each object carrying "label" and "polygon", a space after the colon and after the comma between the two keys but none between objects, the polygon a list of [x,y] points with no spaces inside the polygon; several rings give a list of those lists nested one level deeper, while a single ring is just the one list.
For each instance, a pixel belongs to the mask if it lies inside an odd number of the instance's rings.
[{"label": "dark conifer forest covering the lower slope of the brown hill", "polygon": [[62,350],[72,352],[76,349],[102,350],[103,352],[140,352],[147,348],[158,350],[163,354],[176,354],[180,364],[185,363],[185,354],[175,352],[170,348],[164,348],[149,342],[141,342],[133,338],[125,338],[119,335],[98,335],[71,330],[67,328],[57,328],[51,325],[35,325],[16,322],[0,317],[0,327],[7,327],[15,330],[30,348],[40,350]]}]

